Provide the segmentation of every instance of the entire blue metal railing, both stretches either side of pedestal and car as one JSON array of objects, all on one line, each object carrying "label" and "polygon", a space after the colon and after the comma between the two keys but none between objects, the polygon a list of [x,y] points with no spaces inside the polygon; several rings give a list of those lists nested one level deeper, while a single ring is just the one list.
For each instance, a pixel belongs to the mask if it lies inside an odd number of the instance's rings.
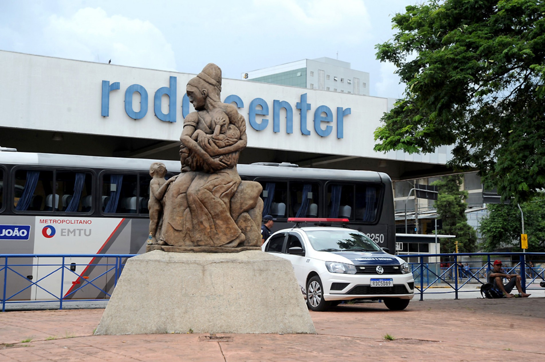
[{"label": "entire blue metal railing, both stretches either side of pedestal and car", "polygon": [[[108,299],[113,292],[125,262],[137,254],[0,254],[2,311],[9,303],[93,302]],[[487,283],[487,275],[495,259],[504,262],[507,274],[519,274],[523,291],[543,290],[545,253],[464,253],[398,255],[409,260],[415,279],[415,294],[453,294],[477,291]],[[456,261],[463,256],[472,260],[468,269]],[[442,262],[429,262],[433,259]],[[480,257],[480,261],[474,260]],[[529,258],[537,266],[531,267]],[[445,265],[449,263],[449,265]],[[443,264],[443,266],[441,266]],[[67,286],[68,285],[68,286]],[[468,289],[473,286],[473,290]]]}]

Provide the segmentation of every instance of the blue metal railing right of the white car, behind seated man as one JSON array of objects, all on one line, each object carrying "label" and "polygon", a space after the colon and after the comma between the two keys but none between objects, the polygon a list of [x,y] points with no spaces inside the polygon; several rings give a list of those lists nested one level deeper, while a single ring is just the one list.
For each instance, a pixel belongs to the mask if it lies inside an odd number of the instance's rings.
[{"label": "blue metal railing right of the white car, behind seated man", "polygon": [[[479,291],[476,287],[488,283],[488,273],[493,268],[495,259],[500,259],[504,263],[503,269],[506,274],[519,274],[523,292],[526,290],[542,290],[540,282],[545,281],[545,275],[542,267],[531,267],[529,257],[532,263],[544,263],[545,253],[458,253],[458,254],[418,254],[418,255],[398,255],[403,259],[410,258],[409,265],[415,279],[415,294],[420,294],[420,300],[423,300],[425,294],[446,294],[453,293],[455,299],[458,299],[458,293],[467,293]],[[458,267],[457,262],[462,262],[462,256],[481,256],[481,261],[463,261],[463,265],[468,263],[468,269]],[[439,257],[439,259],[450,260],[445,262],[429,262],[429,259]],[[413,262],[417,259],[417,262]],[[428,260],[425,262],[425,260]],[[447,264],[447,265],[445,265]],[[473,286],[474,289],[467,287]],[[463,289],[466,287],[465,289]],[[437,291],[435,288],[445,289]]]}]

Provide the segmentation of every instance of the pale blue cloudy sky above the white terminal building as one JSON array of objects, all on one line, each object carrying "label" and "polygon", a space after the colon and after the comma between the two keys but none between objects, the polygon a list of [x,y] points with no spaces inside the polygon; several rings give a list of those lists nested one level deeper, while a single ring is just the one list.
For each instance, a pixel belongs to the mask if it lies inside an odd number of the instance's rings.
[{"label": "pale blue cloudy sky above the white terminal building", "polygon": [[0,0],[0,50],[224,78],[330,57],[370,73],[370,94],[403,96],[375,46],[417,0]]}]

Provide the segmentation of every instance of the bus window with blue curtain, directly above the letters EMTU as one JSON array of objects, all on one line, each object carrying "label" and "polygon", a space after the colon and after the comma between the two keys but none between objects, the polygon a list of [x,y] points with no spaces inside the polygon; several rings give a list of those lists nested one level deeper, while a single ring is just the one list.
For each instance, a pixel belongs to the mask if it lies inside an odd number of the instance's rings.
[{"label": "bus window with blue curtain, directly above the letters EMTU", "polygon": [[88,212],[92,205],[92,176],[86,172],[57,171],[58,211]]}]

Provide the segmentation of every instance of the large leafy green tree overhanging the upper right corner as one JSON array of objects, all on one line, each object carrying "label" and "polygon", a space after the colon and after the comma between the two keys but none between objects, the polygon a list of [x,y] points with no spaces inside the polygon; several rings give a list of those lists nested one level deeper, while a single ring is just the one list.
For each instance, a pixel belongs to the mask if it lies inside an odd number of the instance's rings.
[{"label": "large leafy green tree overhanging the upper right corner", "polygon": [[392,62],[404,99],[375,131],[377,151],[455,145],[451,167],[521,202],[545,185],[545,1],[442,0],[396,14]]}]

